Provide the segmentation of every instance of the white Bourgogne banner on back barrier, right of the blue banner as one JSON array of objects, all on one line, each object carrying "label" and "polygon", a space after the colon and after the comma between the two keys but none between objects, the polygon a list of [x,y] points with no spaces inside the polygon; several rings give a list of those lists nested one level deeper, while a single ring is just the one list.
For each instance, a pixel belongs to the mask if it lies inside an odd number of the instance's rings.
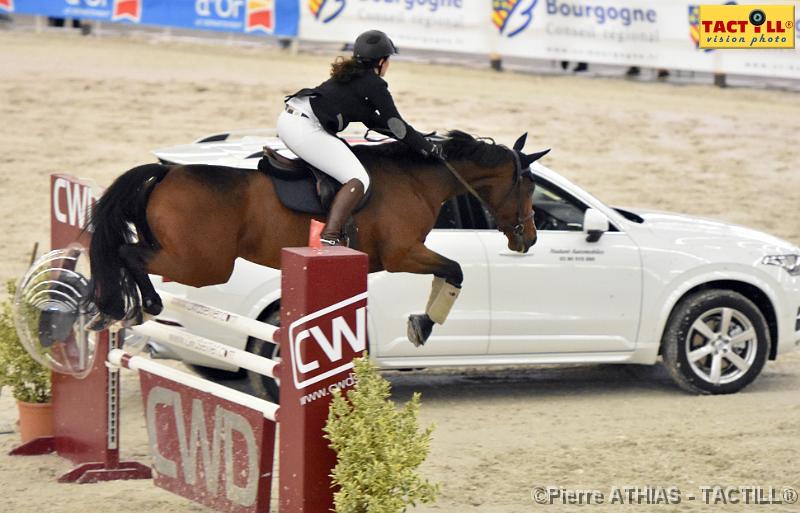
[{"label": "white Bourgogne banner on back barrier, right of the blue banner", "polygon": [[[800,52],[699,48],[701,2],[676,0],[300,0],[301,39],[387,32],[402,49],[800,78]],[[723,0],[707,3],[732,4]],[[740,2],[741,3],[741,2]],[[768,0],[766,4],[798,4]],[[762,2],[764,4],[764,2]],[[800,9],[795,9],[800,16]],[[798,30],[796,24],[791,30]]]}]

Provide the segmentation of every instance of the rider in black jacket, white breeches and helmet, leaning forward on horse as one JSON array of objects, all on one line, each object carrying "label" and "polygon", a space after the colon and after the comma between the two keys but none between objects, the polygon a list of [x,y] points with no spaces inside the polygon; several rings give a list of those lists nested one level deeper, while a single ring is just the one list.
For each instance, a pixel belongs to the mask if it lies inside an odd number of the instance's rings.
[{"label": "rider in black jacket, white breeches and helmet, leaning forward on horse", "polygon": [[389,69],[394,43],[379,30],[356,39],[353,56],[339,57],[331,78],[313,89],[286,97],[278,118],[278,136],[298,157],[342,183],[320,236],[324,244],[346,243],[342,228],[369,187],[369,175],[350,148],[335,134],[352,121],[380,129],[423,155],[442,157],[442,150],[403,121],[381,78]]}]

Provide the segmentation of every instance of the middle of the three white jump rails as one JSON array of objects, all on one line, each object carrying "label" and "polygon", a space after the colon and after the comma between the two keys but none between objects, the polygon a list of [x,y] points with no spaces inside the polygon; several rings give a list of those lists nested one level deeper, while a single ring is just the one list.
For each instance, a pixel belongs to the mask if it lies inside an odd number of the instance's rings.
[{"label": "middle of the three white jump rails", "polygon": [[[257,321],[256,321],[257,322]],[[278,362],[243,351],[211,339],[189,333],[188,331],[167,326],[157,321],[148,321],[139,326],[127,328],[136,333],[156,339],[160,342],[180,346],[190,351],[221,360],[249,371],[275,378]]]}]

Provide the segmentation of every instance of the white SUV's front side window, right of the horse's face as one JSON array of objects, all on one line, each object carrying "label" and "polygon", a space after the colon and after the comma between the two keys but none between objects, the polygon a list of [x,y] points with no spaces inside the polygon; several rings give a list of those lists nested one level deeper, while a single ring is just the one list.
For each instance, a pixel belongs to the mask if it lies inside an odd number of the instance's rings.
[{"label": "white SUV's front side window, right of the horse's face", "polygon": [[533,220],[537,230],[582,231],[586,205],[561,188],[536,180]]}]

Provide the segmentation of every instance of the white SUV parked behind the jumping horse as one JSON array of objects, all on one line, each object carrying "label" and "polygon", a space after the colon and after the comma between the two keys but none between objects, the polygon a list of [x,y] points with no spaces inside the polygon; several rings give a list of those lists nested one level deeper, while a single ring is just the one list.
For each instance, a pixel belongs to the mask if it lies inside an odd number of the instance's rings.
[{"label": "white SUV parked behind the jumping horse", "polygon": [[[263,133],[218,134],[155,153],[162,162],[255,168],[265,144],[280,147]],[[532,171],[539,238],[527,254],[506,248],[472,198],[443,206],[426,245],[461,264],[464,288],[425,346],[407,340],[406,319],[424,308],[430,277],[370,276],[369,350],[379,366],[655,364],[660,355],[682,388],[730,393],[753,381],[768,359],[800,345],[798,247],[719,221],[612,208],[544,166]],[[240,260],[224,285],[154,281],[161,290],[277,323],[279,275]],[[170,320],[277,357],[272,344],[196,319]],[[152,350],[218,366],[178,348]],[[260,376],[249,376],[249,388],[276,392]]]}]

